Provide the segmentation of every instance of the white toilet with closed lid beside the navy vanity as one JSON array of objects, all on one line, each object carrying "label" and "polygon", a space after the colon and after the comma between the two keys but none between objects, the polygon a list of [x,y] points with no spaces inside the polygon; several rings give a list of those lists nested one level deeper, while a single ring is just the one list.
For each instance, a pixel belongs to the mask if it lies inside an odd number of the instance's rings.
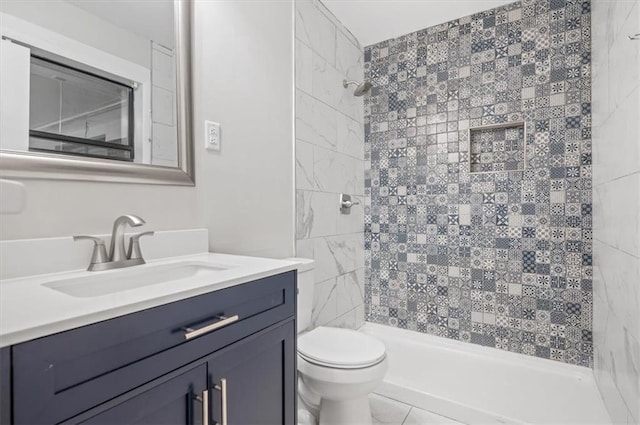
[{"label": "white toilet with closed lid beside the navy vanity", "polygon": [[352,329],[320,326],[308,330],[313,307],[314,262],[300,258],[289,260],[300,264],[298,409],[304,410],[299,410],[299,424],[314,423],[315,417],[319,425],[370,425],[368,396],[387,371],[385,346]]}]

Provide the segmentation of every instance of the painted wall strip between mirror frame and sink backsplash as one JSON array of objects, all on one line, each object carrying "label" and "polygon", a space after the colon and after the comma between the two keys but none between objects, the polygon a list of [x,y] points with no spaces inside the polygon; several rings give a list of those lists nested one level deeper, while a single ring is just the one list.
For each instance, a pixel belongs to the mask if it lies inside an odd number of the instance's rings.
[{"label": "painted wall strip between mirror frame and sink backsplash", "polygon": [[23,180],[26,207],[0,217],[0,239],[109,233],[122,214],[144,218],[148,229],[197,227],[194,188]]}]

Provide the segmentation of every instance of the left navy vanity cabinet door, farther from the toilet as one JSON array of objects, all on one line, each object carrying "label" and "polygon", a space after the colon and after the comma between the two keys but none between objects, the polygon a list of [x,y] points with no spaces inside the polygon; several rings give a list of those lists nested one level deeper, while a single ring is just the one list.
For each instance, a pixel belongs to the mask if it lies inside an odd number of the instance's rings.
[{"label": "left navy vanity cabinet door, farther from the toilet", "polygon": [[207,365],[187,366],[102,404],[66,424],[202,424]]}]

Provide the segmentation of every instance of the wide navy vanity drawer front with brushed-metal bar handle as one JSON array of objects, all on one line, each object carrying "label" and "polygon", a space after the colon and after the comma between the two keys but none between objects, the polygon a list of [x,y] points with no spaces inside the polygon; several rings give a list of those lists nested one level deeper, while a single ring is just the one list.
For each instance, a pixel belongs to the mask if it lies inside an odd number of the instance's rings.
[{"label": "wide navy vanity drawer front with brushed-metal bar handle", "polygon": [[291,271],[13,346],[14,423],[65,420],[291,318],[295,282]]}]

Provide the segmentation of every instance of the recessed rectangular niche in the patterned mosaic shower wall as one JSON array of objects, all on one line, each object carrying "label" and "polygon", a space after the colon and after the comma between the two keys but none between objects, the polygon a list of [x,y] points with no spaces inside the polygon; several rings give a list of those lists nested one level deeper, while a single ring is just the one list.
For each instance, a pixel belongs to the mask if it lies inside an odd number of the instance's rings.
[{"label": "recessed rectangular niche in the patterned mosaic shower wall", "polygon": [[469,129],[469,171],[490,173],[525,169],[524,121],[491,124]]}]

